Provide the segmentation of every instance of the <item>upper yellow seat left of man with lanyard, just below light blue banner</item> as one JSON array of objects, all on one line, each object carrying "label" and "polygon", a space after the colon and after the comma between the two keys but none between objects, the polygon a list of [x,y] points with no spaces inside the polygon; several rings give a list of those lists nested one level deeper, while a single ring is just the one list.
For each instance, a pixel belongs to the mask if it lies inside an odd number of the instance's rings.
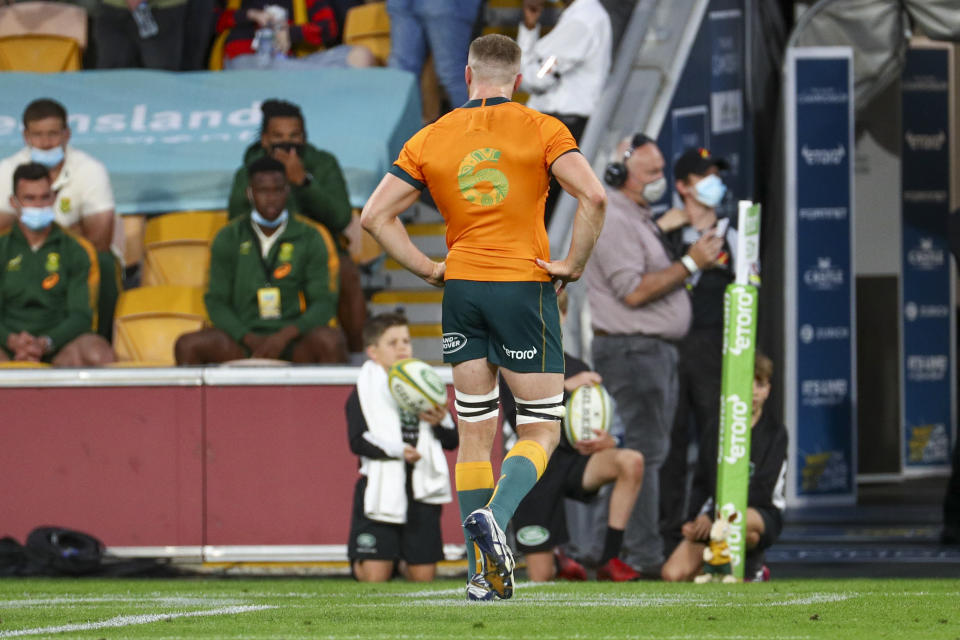
[{"label": "upper yellow seat left of man with lanyard, just below light blue banner", "polygon": [[210,243],[226,224],[226,211],[182,211],[148,220],[141,283],[205,287]]}]

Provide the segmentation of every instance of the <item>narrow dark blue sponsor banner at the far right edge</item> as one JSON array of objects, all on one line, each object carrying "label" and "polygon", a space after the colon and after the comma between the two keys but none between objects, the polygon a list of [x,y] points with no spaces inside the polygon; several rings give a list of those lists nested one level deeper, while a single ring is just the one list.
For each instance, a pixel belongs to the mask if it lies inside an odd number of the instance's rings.
[{"label": "narrow dark blue sponsor banner at the far right edge", "polygon": [[911,48],[902,75],[901,435],[907,474],[950,466],[950,50]]}]

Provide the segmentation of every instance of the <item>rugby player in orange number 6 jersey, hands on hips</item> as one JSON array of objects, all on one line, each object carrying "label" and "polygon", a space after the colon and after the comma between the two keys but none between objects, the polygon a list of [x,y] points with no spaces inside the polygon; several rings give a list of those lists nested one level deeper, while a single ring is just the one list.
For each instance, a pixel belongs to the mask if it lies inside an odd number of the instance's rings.
[{"label": "rugby player in orange number 6 jersey, hands on hips", "polygon": [[[513,40],[474,40],[465,70],[470,100],[407,141],[361,216],[392,258],[445,287],[443,359],[453,365],[456,389],[456,485],[470,600],[513,593],[514,561],[503,530],[560,437],[556,289],[583,273],[606,206],[603,186],[566,126],[510,101],[519,70]],[[570,249],[556,261],[543,222],[551,174],[578,201]],[[447,223],[445,262],[420,251],[398,219],[425,187]],[[498,368],[517,401],[519,439],[495,483]]]}]

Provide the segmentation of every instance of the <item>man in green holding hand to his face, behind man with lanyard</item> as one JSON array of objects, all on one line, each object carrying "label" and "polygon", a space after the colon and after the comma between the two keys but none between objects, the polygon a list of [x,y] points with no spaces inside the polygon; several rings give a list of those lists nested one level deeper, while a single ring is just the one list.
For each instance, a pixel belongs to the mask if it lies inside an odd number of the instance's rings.
[{"label": "man in green holding hand to his face, behind man with lanyard", "polygon": [[[347,183],[337,159],[307,142],[307,130],[300,107],[283,100],[267,100],[260,107],[263,120],[260,140],[250,145],[237,170],[230,192],[230,218],[250,213],[247,197],[247,170],[251,162],[270,156],[286,168],[290,196],[287,209],[300,213],[330,230],[335,238],[351,223]],[[363,350],[363,323],[366,301],[360,284],[360,272],[350,255],[338,244],[340,254],[340,302],[337,316],[347,334],[351,352]]]}]

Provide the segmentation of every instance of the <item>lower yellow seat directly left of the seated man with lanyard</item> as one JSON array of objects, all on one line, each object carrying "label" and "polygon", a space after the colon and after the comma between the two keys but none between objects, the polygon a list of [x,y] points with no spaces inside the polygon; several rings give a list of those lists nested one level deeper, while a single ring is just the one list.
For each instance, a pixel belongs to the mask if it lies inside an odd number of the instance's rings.
[{"label": "lower yellow seat directly left of the seated man with lanyard", "polygon": [[203,289],[162,285],[120,294],[113,321],[118,362],[173,366],[173,345],[184,333],[207,324]]}]

